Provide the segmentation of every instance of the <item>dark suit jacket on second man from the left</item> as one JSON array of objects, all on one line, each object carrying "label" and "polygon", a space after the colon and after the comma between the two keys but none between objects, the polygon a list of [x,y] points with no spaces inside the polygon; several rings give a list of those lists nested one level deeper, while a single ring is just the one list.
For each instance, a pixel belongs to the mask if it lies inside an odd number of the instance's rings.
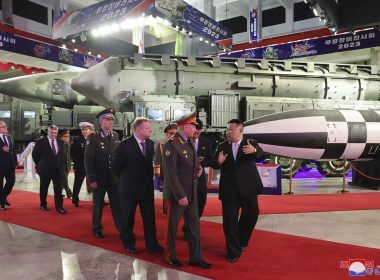
[{"label": "dark suit jacket on second man from the left", "polygon": [[54,174],[59,169],[59,173],[63,175],[64,160],[64,148],[63,141],[56,139],[58,145],[58,153],[55,155],[47,137],[44,137],[37,141],[34,146],[32,157],[36,163],[37,172],[40,176]]}]

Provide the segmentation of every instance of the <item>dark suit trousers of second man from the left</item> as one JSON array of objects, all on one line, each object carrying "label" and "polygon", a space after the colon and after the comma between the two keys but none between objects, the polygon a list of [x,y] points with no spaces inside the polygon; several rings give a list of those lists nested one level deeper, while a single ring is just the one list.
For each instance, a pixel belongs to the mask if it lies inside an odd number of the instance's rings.
[{"label": "dark suit trousers of second man from the left", "polygon": [[54,202],[55,208],[62,208],[62,185],[61,185],[61,175],[58,168],[51,174],[42,173],[40,175],[40,205],[47,206],[46,197],[50,185],[50,181],[53,181],[54,188]]}]

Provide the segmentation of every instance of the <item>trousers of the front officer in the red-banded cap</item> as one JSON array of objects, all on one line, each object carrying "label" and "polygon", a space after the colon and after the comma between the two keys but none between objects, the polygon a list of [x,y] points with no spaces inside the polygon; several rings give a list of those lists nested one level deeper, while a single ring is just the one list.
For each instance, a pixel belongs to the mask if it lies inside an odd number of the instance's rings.
[{"label": "trousers of the front officer in the red-banded cap", "polygon": [[187,206],[181,206],[176,201],[165,200],[167,217],[166,230],[164,236],[164,249],[166,261],[177,258],[175,250],[175,240],[177,235],[178,224],[181,217],[184,217],[186,224],[186,237],[189,242],[190,262],[199,262],[203,260],[200,242],[200,225],[198,216],[197,201],[189,203]]}]

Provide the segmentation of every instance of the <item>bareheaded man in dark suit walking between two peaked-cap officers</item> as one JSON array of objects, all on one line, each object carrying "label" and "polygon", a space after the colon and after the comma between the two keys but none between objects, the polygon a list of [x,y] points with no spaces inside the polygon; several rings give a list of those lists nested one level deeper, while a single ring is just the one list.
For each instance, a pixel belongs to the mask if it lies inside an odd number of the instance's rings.
[{"label": "bareheaded man in dark suit walking between two peaked-cap officers", "polygon": [[116,149],[112,168],[120,177],[121,232],[125,249],[136,253],[133,233],[136,207],[139,205],[144,225],[145,245],[148,252],[163,252],[156,238],[154,212],[153,154],[154,143],[150,122],[136,118],[134,134],[123,140]]}]

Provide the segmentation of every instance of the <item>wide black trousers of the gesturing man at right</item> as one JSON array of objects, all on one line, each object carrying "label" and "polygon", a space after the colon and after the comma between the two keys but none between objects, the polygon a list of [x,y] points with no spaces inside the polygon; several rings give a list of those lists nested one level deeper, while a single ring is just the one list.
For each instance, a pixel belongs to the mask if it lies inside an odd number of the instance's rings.
[{"label": "wide black trousers of the gesturing man at right", "polygon": [[[239,209],[242,209],[239,218]],[[222,200],[223,230],[227,255],[235,258],[247,247],[259,217],[257,196],[247,199]]]}]

